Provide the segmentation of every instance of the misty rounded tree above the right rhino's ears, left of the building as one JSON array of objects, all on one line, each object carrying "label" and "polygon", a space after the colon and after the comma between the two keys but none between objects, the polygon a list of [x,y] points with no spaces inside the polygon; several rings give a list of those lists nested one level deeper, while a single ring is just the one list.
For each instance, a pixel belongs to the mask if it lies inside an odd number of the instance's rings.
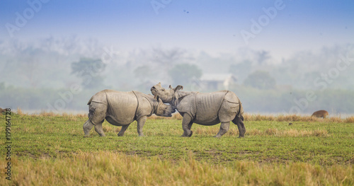
[{"label": "misty rounded tree above the right rhino's ears, left of the building", "polygon": [[199,80],[202,70],[195,64],[177,64],[169,70],[169,75],[175,85],[188,85],[193,80]]}]

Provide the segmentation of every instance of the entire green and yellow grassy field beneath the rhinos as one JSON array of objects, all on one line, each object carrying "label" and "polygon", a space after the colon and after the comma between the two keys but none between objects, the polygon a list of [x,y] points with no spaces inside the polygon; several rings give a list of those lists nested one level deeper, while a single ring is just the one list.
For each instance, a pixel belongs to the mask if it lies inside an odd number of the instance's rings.
[{"label": "entire green and yellow grassy field beneath the rhinos", "polygon": [[144,137],[136,122],[122,137],[104,122],[106,137],[84,138],[86,120],[12,115],[12,179],[1,124],[0,185],[354,185],[354,117],[245,115],[242,139],[234,124],[220,139],[219,124],[182,138],[178,116],[150,117]]}]

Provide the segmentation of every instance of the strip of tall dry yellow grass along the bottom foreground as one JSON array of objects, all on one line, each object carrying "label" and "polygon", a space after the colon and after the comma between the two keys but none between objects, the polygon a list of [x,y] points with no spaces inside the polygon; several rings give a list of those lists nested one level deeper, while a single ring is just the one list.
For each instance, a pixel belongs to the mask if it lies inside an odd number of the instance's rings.
[{"label": "strip of tall dry yellow grass along the bottom foreground", "polygon": [[[0,160],[5,167],[4,159]],[[174,162],[111,151],[73,153],[72,157],[13,159],[12,181],[0,185],[352,185],[353,165],[328,168],[309,163],[258,164],[234,161],[211,165],[193,153]]]}]

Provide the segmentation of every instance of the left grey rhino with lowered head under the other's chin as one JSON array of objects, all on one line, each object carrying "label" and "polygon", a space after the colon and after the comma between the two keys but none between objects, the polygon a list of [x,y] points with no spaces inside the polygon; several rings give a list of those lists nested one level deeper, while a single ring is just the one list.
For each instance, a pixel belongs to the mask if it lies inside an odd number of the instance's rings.
[{"label": "left grey rhino with lowered head under the other's chin", "polygon": [[130,123],[137,120],[137,133],[144,136],[142,127],[152,114],[171,117],[175,109],[165,105],[161,99],[138,91],[120,92],[103,90],[89,100],[89,120],[84,123],[85,136],[89,136],[92,127],[100,136],[105,136],[102,123],[107,120],[115,126],[122,126],[118,136],[123,136]]}]

